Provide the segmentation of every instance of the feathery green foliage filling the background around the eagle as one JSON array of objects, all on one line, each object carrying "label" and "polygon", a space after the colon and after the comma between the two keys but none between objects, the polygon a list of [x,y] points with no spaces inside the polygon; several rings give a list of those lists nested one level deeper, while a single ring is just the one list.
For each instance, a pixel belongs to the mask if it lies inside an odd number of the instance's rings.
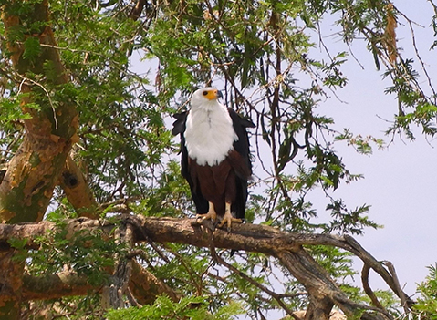
[{"label": "feathery green foliage filling the background around the eagle", "polygon": [[[335,119],[319,113],[317,107],[328,93],[348,88],[343,66],[351,56],[347,50],[336,52],[323,42],[321,55],[315,54],[315,48],[319,47],[317,37],[325,35],[323,19],[333,16],[335,32],[344,43],[364,41],[382,77],[390,79],[386,93],[397,98],[398,113],[388,132],[404,132],[413,139],[411,126],[419,125],[433,136],[435,94],[432,88],[431,94],[426,93],[430,88],[423,88],[426,85],[417,64],[420,57],[403,57],[396,47],[396,21],[404,19],[411,26],[396,4],[388,0],[151,1],[139,16],[132,15],[133,5],[130,1],[50,1],[49,26],[55,31],[71,82],[44,85],[45,77],[56,77],[49,64],[42,70],[44,77],[26,75],[35,82],[34,94],[39,97],[26,108],[51,112],[66,99],[76,102],[80,125],[74,159],[85,172],[96,201],[105,203],[104,214],[122,200],[137,214],[192,215],[189,189],[175,160],[179,146],[169,132],[170,117],[187,107],[194,88],[206,84],[223,88],[224,103],[257,126],[251,134],[256,171],[248,222],[293,232],[352,234],[378,226],[367,216],[369,205],[350,209],[336,198],[336,189],[362,177],[348,170],[335,146],[346,141],[359,152],[370,154],[383,141],[363,138],[348,128],[338,132],[333,129]],[[26,9],[26,5],[10,7]],[[32,21],[23,25],[28,30],[41,28]],[[436,29],[435,20],[432,26]],[[32,63],[42,45],[35,37],[25,36],[28,30],[16,29],[8,38],[23,44],[23,58]],[[1,24],[0,34],[4,31]],[[1,53],[0,164],[5,164],[22,141],[23,120],[31,113],[20,108],[26,93],[19,86],[23,78],[11,67],[11,53],[5,46]],[[308,200],[315,189],[326,196],[328,218]],[[77,214],[60,190],[52,208],[49,219]],[[47,252],[51,249],[45,245],[47,241],[41,240],[41,251],[28,261],[32,266],[29,272],[59,270],[71,257],[83,270],[88,270],[91,261],[101,264],[99,270],[110,264],[80,245],[78,252],[68,249],[54,260]],[[101,248],[103,243],[95,241]],[[208,251],[176,244],[162,245],[161,252],[149,246],[141,249],[153,272],[186,297],[179,305],[160,297],[150,306],[112,311],[109,319],[128,315],[213,319],[236,315],[240,308],[249,316],[278,308],[259,288],[215,269]],[[326,247],[315,248],[312,254],[339,284],[350,285],[354,272],[348,254]],[[305,308],[306,296],[299,294],[302,286],[281,274],[280,265],[261,254],[236,256],[234,263],[245,274],[267,286],[281,287],[290,308]],[[186,274],[190,274],[188,279]],[[100,275],[95,276],[103,281]],[[275,277],[284,280],[277,284],[277,279],[272,280]],[[425,301],[432,293],[426,285],[421,288]],[[361,299],[356,289],[350,289],[349,294]],[[191,304],[200,307],[191,309]]]}]

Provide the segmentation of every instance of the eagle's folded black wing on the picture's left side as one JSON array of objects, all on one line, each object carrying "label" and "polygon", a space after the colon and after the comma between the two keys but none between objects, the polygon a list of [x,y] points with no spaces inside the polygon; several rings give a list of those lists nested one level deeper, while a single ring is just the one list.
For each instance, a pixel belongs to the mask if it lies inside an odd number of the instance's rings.
[{"label": "eagle's folded black wing on the picture's left side", "polygon": [[181,173],[182,177],[185,178],[190,185],[190,190],[192,191],[192,201],[194,201],[196,211],[197,213],[206,213],[209,209],[208,201],[203,198],[202,191],[200,188],[197,188],[197,185],[194,184],[194,181],[192,181],[192,176],[188,167],[188,151],[185,147],[185,138],[183,137],[187,115],[188,111],[173,115],[176,121],[173,122],[172,134],[174,136],[179,134],[181,137]]}]

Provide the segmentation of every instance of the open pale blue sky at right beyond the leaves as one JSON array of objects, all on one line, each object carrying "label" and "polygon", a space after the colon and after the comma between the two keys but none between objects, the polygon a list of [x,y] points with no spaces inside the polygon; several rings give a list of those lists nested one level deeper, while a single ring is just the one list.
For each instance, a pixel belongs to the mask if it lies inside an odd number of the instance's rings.
[{"label": "open pale blue sky at right beyond the leaves", "polygon": [[[434,40],[432,5],[425,0],[394,0],[393,4],[423,26],[414,26],[416,42],[430,76],[437,81],[436,52],[429,50]],[[410,26],[400,21],[397,32],[398,46],[411,57]],[[338,97],[348,104],[332,98],[322,104],[321,110],[336,120],[338,129],[384,138],[389,124],[382,119],[393,119],[397,101],[383,94],[389,82],[382,81],[381,72],[376,71],[373,57],[364,52],[363,45],[354,44],[352,49],[364,70],[353,59],[343,68],[349,85],[338,92]],[[425,81],[423,77],[421,84]],[[371,204],[370,219],[384,225],[377,231],[368,230],[357,240],[377,259],[394,263],[407,294],[413,294],[416,283],[428,274],[426,266],[437,262],[437,144],[434,139],[424,139],[421,129],[415,129],[415,133],[415,141],[395,137],[388,148],[374,150],[371,156],[336,145],[349,170],[365,176],[336,193],[351,207]],[[384,139],[390,142],[391,137]],[[387,288],[375,276],[370,279],[374,287]]]}]

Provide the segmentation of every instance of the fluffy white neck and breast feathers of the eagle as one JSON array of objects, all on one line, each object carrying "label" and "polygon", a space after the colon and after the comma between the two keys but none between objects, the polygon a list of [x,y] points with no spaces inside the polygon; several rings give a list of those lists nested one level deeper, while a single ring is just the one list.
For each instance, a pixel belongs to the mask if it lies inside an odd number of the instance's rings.
[{"label": "fluffy white neck and breast feathers of the eagle", "polygon": [[184,137],[188,156],[202,166],[222,162],[238,139],[227,108],[216,100],[191,109]]}]

